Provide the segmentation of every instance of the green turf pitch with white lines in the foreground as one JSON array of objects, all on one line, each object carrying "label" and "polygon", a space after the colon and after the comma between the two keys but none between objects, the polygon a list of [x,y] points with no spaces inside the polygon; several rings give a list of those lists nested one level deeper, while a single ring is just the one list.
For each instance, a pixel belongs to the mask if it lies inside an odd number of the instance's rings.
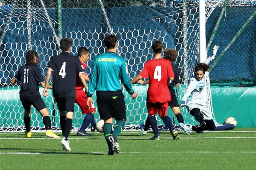
[{"label": "green turf pitch with white lines in the foreground", "polygon": [[[245,131],[245,132],[244,132]],[[90,132],[89,132],[90,133]],[[138,132],[122,132],[120,153],[108,156],[103,133],[70,135],[71,152],[62,151],[61,139],[45,133],[0,133],[0,170],[253,170],[256,168],[256,128],[192,133],[173,140],[148,140]],[[60,133],[57,133],[60,135]],[[25,154],[28,153],[28,154]]]}]

